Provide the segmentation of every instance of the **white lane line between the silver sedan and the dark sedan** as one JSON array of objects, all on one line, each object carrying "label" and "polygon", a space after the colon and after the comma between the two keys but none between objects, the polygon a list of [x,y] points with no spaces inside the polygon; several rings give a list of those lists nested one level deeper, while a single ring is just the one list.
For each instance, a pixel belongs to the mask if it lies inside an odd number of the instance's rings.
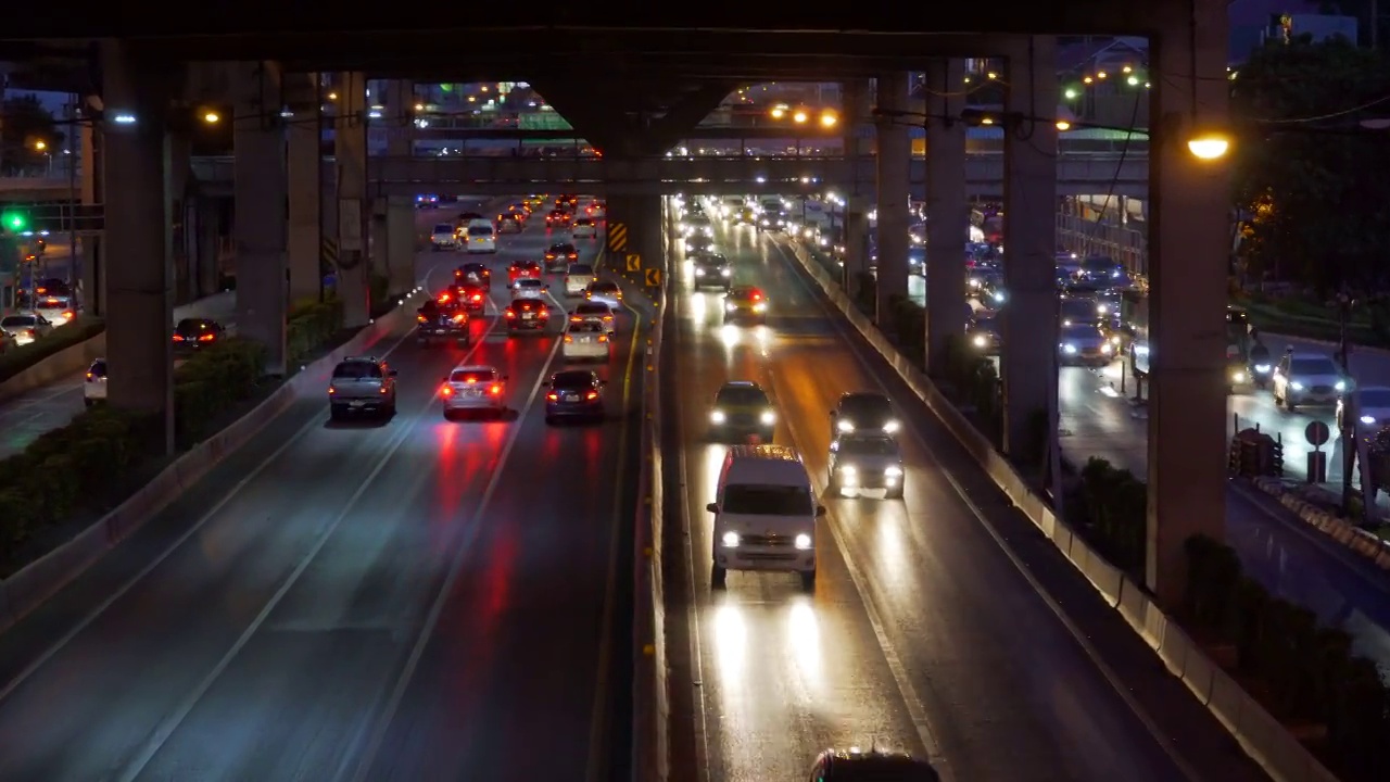
[{"label": "white lane line between the silver sedan and the dark sedan", "polygon": [[[482,490],[482,498],[478,501],[477,508],[473,512],[471,523],[466,537],[460,540],[455,548],[453,558],[449,562],[449,570],[445,575],[443,583],[439,591],[435,594],[434,603],[430,604],[430,612],[425,615],[425,622],[420,629],[420,635],[416,636],[416,643],[410,650],[410,657],[406,660],[404,667],[400,669],[400,675],[396,678],[396,685],[391,690],[391,696],[386,704],[378,712],[377,719],[373,721],[373,729],[367,740],[366,749],[357,757],[357,768],[353,771],[350,779],[356,782],[363,782],[367,775],[371,774],[373,763],[377,760],[377,753],[381,751],[382,742],[386,740],[386,731],[391,729],[391,724],[396,718],[396,712],[400,710],[400,701],[406,697],[406,689],[416,676],[416,669],[420,668],[420,660],[425,654],[425,647],[434,640],[435,630],[439,626],[439,618],[443,615],[445,603],[449,601],[449,594],[453,591],[459,576],[463,573],[464,557],[473,547],[482,529],[482,515],[488,511],[492,504],[492,497],[496,494],[498,487],[502,484],[502,476],[506,472],[507,459],[512,458],[512,449],[516,447],[517,440],[521,437],[521,422],[525,420],[527,413],[535,406],[537,398],[541,395],[541,390],[545,387],[548,380],[548,373],[550,365],[555,363],[556,353],[560,352],[560,345],[563,341],[556,337],[555,345],[550,348],[550,355],[541,365],[541,373],[535,378],[535,385],[531,387],[531,394],[527,397],[525,406],[518,410],[517,426],[512,427],[507,436],[506,444],[502,447],[502,452],[498,456],[496,466],[492,469],[492,476],[488,479],[488,486]],[[342,764],[339,764],[334,779],[342,779],[343,774],[348,772],[346,765],[350,761],[343,757]]]}]

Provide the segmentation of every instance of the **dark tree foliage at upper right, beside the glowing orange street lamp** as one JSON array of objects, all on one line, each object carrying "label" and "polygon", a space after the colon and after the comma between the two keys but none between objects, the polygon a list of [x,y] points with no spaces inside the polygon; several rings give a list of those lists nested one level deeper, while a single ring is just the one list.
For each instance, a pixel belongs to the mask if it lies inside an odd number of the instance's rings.
[{"label": "dark tree foliage at upper right, beside the glowing orange street lamp", "polygon": [[1233,79],[1232,114],[1247,266],[1322,294],[1383,289],[1390,139],[1359,122],[1390,115],[1386,60],[1340,38],[1268,42]]}]

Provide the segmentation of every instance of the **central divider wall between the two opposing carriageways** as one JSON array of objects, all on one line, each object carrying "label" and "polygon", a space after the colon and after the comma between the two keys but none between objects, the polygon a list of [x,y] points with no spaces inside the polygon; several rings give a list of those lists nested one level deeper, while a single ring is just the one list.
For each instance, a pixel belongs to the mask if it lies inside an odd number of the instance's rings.
[{"label": "central divider wall between the two opposing carriageways", "polygon": [[670,690],[666,661],[666,609],[662,573],[662,402],[660,358],[664,296],[653,301],[642,385],[642,465],[637,494],[632,590],[632,779],[670,776]]}]

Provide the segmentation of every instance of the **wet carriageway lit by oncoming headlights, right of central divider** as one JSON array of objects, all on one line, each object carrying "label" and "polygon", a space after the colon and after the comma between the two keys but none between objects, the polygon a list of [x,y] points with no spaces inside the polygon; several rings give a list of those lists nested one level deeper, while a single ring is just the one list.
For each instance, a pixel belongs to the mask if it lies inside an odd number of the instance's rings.
[{"label": "wet carriageway lit by oncoming headlights, right of central divider", "polygon": [[735,378],[767,387],[781,413],[776,441],[802,451],[823,490],[826,412],[883,377],[795,262],[766,238],[721,239],[735,277],[769,294],[771,317],[766,328],[723,328],[717,295],[674,296],[667,377],[680,381],[667,392],[684,444],[694,719],[708,779],[792,779],[826,746],[869,743],[942,760],[958,781],[1261,778],[919,405],[901,405],[905,501],[823,498],[813,596],[773,573],[730,573],[727,591],[712,593],[705,504],[724,454],[705,437],[714,390]]}]

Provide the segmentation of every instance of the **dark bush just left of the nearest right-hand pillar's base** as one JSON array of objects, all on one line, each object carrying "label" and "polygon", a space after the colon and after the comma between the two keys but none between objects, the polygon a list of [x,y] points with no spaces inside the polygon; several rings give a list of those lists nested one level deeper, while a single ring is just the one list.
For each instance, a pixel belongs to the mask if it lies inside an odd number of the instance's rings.
[{"label": "dark bush just left of the nearest right-hand pillar's base", "polygon": [[1129,470],[1091,456],[1081,468],[1081,502],[1095,547],[1116,568],[1144,568],[1148,540],[1148,487]]}]

